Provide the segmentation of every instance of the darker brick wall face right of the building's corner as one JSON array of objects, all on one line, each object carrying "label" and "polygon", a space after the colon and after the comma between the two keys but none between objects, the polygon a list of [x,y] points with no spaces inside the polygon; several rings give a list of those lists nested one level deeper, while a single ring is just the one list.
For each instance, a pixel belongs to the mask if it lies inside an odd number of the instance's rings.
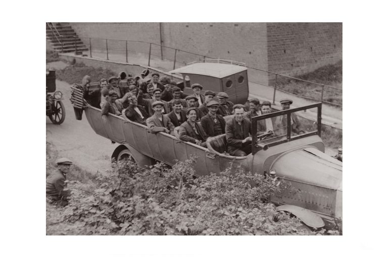
[{"label": "darker brick wall face right of the building's corner", "polygon": [[268,70],[311,72],[342,59],[342,23],[267,23]]}]

